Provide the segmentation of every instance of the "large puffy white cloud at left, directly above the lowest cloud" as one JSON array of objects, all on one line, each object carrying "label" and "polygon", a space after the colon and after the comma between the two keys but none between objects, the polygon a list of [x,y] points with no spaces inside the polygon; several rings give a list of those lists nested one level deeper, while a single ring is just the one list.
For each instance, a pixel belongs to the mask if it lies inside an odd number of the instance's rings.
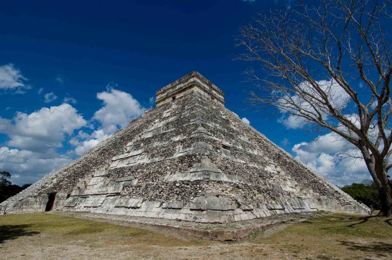
[{"label": "large puffy white cloud at left, directly above the lowest cloud", "polygon": [[41,108],[26,114],[18,112],[11,120],[0,118],[0,132],[8,134],[8,145],[30,151],[62,147],[65,134],[86,125],[83,116],[69,104]]}]

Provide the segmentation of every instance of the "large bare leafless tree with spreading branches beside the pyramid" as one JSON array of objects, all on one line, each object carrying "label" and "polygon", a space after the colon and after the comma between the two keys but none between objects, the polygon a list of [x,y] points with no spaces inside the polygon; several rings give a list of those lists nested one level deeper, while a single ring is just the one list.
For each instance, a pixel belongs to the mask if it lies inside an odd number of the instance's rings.
[{"label": "large bare leafless tree with spreading branches beside the pyramid", "polygon": [[258,86],[252,104],[275,106],[358,148],[382,198],[380,216],[392,214],[391,14],[389,0],[298,3],[258,14],[237,39],[238,59],[257,65],[246,71]]}]

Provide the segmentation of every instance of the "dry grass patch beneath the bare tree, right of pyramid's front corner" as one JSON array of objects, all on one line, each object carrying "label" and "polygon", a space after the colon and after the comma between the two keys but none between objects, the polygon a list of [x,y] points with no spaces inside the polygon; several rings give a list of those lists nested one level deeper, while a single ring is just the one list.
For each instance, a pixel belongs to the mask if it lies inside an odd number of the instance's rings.
[{"label": "dry grass patch beneath the bare tree, right of pyramid's front corner", "polygon": [[[293,257],[322,259],[392,257],[392,219],[331,214],[290,225],[272,236],[248,241]],[[308,254],[308,256],[306,256]]]}]

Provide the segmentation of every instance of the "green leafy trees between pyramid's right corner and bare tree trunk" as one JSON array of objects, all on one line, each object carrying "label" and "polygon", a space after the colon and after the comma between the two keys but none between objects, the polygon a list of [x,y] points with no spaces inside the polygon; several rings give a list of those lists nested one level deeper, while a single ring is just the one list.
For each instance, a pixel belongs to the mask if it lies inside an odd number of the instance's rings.
[{"label": "green leafy trees between pyramid's right corner and bare tree trunk", "polygon": [[381,208],[381,200],[377,186],[371,180],[344,186],[342,190],[358,202],[364,203],[368,207],[372,206],[376,210]]}]

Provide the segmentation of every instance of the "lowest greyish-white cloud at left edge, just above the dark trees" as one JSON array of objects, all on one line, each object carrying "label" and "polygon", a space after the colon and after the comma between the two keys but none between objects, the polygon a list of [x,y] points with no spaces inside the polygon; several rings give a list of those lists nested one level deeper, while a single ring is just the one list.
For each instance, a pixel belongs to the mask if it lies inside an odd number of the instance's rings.
[{"label": "lowest greyish-white cloud at left edge, just above the dark trees", "polygon": [[0,169],[11,173],[12,183],[33,183],[70,161],[57,153],[42,154],[26,150],[0,147]]}]

